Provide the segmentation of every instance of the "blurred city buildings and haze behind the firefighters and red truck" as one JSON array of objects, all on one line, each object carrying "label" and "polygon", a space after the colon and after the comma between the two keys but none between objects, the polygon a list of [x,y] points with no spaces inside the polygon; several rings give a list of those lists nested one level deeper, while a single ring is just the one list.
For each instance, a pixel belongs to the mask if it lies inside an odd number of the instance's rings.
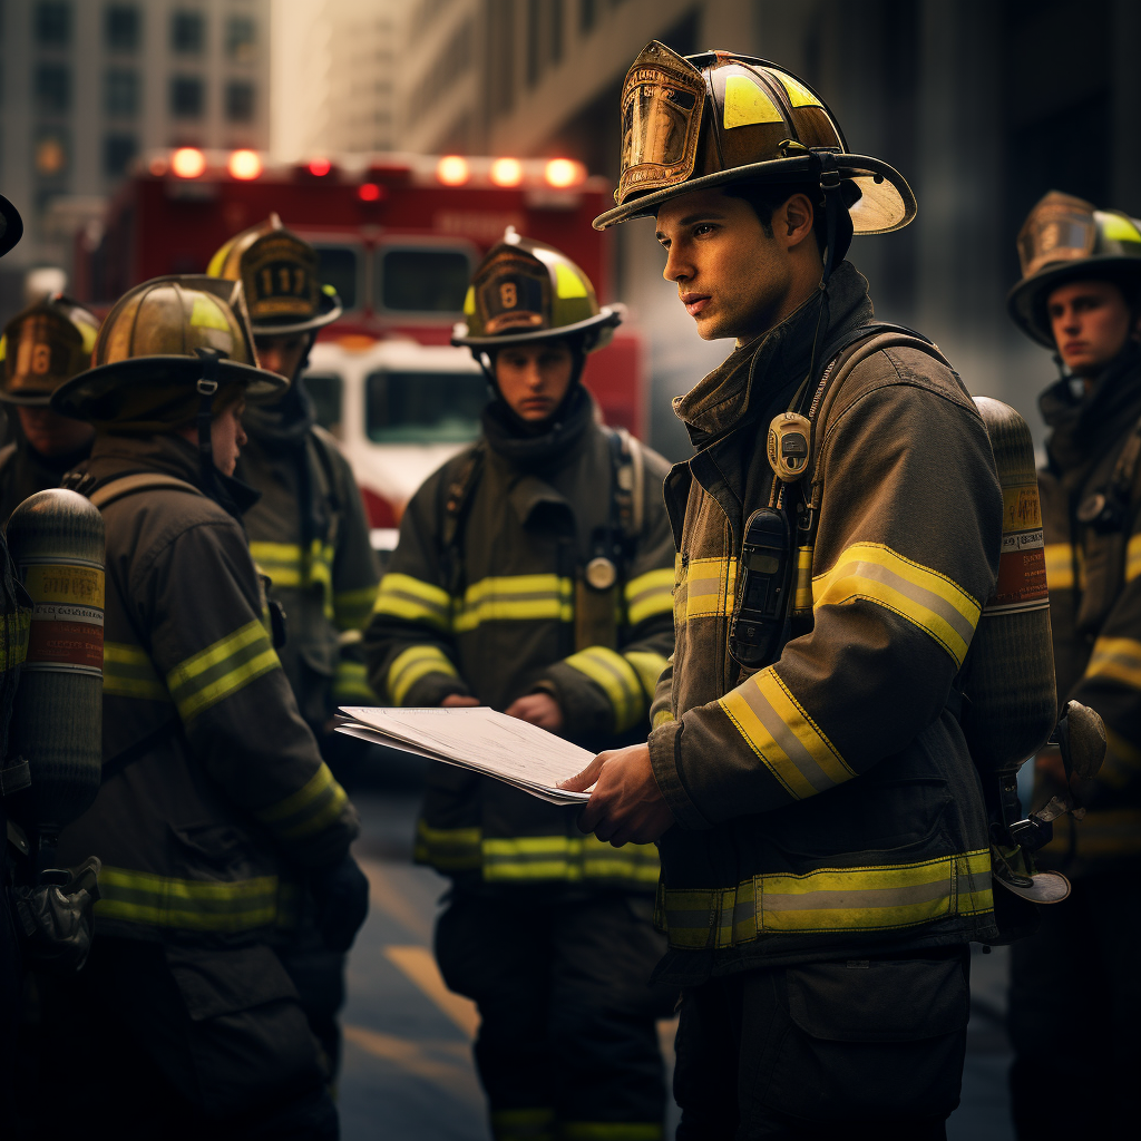
[{"label": "blurred city buildings and haze behind the firefighters and red truck", "polygon": [[[1053,366],[1005,316],[1014,236],[1052,187],[1141,213],[1133,0],[3,0],[0,189],[29,233],[0,270],[0,317],[27,270],[72,274],[154,148],[565,156],[613,181],[618,91],[652,38],[780,62],[852,149],[904,172],[916,221],[850,254],[879,315],[1039,434]],[[618,229],[609,292],[648,347],[650,443],[679,458],[669,397],[729,346],[683,318],[652,229]]]}]

